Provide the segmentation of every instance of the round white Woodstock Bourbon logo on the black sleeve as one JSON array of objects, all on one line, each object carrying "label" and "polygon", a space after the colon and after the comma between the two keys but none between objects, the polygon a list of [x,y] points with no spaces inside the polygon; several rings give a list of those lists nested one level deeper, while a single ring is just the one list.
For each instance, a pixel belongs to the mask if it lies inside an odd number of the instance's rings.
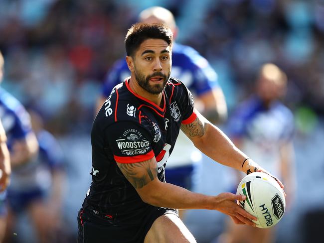
[{"label": "round white Woodstock Bourbon logo on the black sleeve", "polygon": [[133,128],[125,130],[116,143],[121,153],[127,156],[146,154],[151,150],[150,141],[144,139],[143,134]]}]

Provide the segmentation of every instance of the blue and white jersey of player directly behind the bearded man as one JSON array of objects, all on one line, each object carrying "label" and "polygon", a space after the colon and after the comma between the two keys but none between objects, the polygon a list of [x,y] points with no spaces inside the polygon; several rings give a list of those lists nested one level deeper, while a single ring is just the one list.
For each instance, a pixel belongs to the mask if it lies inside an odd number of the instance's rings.
[{"label": "blue and white jersey of player directly behind the bearded man", "polygon": [[[102,95],[108,97],[112,89],[131,75],[125,58],[115,63],[107,75]],[[193,95],[200,96],[219,87],[217,74],[208,61],[189,46],[173,43],[171,77],[181,80]],[[188,153],[188,151],[192,151]],[[167,168],[191,164],[201,159],[201,153],[180,131]]]}]

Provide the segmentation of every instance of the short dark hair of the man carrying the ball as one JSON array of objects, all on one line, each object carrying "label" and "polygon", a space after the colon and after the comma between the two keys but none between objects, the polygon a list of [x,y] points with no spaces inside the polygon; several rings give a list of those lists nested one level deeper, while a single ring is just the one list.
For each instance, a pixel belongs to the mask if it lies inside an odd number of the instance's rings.
[{"label": "short dark hair of the man carrying the ball", "polygon": [[172,46],[172,31],[164,23],[136,23],[127,31],[125,47],[128,56],[134,55],[139,46],[147,39],[162,39]]}]

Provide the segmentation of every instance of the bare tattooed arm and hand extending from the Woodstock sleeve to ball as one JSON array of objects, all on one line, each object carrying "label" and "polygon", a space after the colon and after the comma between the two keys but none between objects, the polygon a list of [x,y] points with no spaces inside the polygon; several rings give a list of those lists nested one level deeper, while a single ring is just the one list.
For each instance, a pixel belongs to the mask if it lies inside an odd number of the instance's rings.
[{"label": "bare tattooed arm and hand extending from the Woodstock sleeve to ball", "polygon": [[234,202],[244,200],[243,195],[221,193],[218,196],[207,196],[161,182],[157,178],[155,157],[138,163],[117,164],[142,200],[148,204],[176,209],[214,209],[229,215],[237,224],[255,225],[250,221],[255,218]]}]

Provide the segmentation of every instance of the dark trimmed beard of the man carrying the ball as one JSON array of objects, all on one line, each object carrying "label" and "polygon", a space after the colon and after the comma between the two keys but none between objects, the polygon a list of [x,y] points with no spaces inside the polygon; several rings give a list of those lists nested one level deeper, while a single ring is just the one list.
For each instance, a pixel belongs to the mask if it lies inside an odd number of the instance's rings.
[{"label": "dark trimmed beard of the man carrying the ball", "polygon": [[[155,76],[160,76],[163,78],[163,82],[159,84],[150,84],[150,79],[155,77]],[[161,72],[155,72],[147,77],[145,77],[143,74],[138,73],[135,69],[135,78],[138,81],[139,85],[145,89],[147,92],[153,94],[153,95],[159,95],[163,91],[166,82],[170,78],[170,72],[167,75],[162,74]]]}]

